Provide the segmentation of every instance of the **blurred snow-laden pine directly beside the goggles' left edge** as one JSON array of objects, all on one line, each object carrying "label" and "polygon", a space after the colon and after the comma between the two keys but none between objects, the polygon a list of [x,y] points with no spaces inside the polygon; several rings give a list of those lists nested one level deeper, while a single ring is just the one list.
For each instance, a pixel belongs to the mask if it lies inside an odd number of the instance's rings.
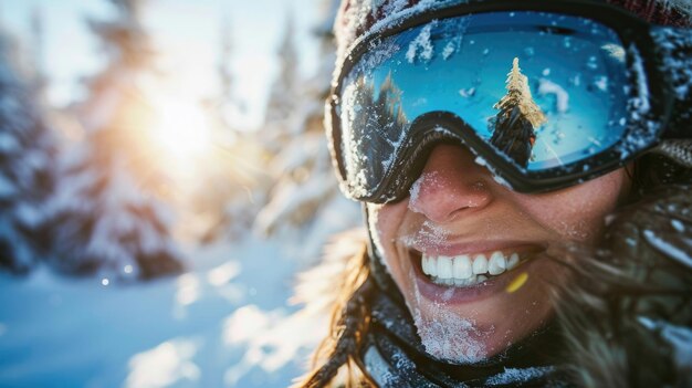
[{"label": "blurred snow-laden pine directly beside the goggles' left edge", "polygon": [[[322,20],[313,32],[319,42],[322,63],[313,77],[302,80],[295,71],[295,60],[291,59],[295,55],[291,54],[294,51],[282,46],[282,52],[290,56],[284,61],[281,74],[293,74],[294,81],[286,84],[302,87],[293,88],[290,98],[283,99],[286,105],[276,111],[290,113],[283,126],[279,127],[283,130],[284,140],[268,168],[275,183],[255,222],[255,230],[262,233],[289,233],[286,240],[295,243],[286,250],[289,254],[304,260],[304,264],[318,258],[325,242],[334,233],[359,224],[361,218],[356,202],[338,192],[323,126],[324,101],[329,93],[336,52],[332,25],[338,3],[336,0],[323,0],[321,3]],[[285,42],[293,41],[289,36],[284,39]],[[275,85],[282,84],[277,82]],[[276,116],[273,108],[275,105],[268,107],[268,125]]]}]

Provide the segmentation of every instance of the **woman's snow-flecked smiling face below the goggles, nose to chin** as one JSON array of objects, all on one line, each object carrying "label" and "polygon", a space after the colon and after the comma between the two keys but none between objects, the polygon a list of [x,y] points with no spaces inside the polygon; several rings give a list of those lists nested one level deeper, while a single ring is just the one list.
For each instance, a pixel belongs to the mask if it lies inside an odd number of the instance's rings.
[{"label": "woman's snow-flecked smiling face below the goggles, nose to chin", "polygon": [[493,356],[548,318],[552,284],[566,274],[542,253],[597,240],[629,190],[619,169],[522,195],[473,160],[464,148],[439,145],[407,199],[368,206],[376,247],[426,349],[460,363]]}]

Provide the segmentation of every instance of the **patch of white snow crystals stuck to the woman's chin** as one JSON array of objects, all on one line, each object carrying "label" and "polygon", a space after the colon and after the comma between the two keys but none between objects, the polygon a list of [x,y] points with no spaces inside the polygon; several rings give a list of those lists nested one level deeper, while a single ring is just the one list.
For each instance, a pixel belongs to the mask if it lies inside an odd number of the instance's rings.
[{"label": "patch of white snow crystals stuck to the woman's chin", "polygon": [[426,352],[440,359],[473,364],[487,356],[482,342],[486,335],[475,327],[475,323],[450,312],[440,305],[433,317],[423,317],[416,312],[413,321]]}]

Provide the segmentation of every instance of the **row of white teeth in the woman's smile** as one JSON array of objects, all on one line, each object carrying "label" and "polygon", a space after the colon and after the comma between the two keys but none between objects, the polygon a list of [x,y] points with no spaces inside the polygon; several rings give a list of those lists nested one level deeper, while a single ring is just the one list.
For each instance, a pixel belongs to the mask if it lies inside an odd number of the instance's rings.
[{"label": "row of white teeth in the woman's smile", "polygon": [[422,271],[432,277],[437,284],[448,286],[470,286],[485,282],[490,275],[499,275],[518,265],[520,255],[515,252],[505,256],[500,251],[491,254],[478,254],[471,259],[468,254],[458,256],[431,256],[423,254],[421,258]]}]

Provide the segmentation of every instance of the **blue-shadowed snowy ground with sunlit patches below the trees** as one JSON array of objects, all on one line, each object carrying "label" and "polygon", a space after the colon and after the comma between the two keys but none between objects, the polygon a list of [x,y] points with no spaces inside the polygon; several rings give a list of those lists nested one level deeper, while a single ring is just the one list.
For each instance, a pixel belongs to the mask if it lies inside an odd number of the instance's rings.
[{"label": "blue-shadowed snowy ground with sunlit patches below the trees", "polygon": [[0,387],[289,386],[324,327],[287,303],[297,263],[255,238],[188,254],[129,285],[0,275]]}]

